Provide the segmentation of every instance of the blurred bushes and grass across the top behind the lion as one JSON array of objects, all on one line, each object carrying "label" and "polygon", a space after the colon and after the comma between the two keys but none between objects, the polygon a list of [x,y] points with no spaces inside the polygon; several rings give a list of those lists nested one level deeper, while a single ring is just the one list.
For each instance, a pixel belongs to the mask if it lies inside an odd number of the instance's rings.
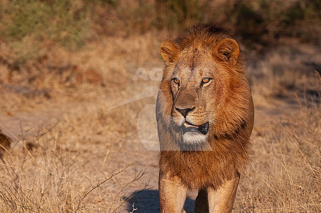
[{"label": "blurred bushes and grass across the top behind the lion", "polygon": [[[298,44],[320,47],[320,8],[319,0],[2,0],[0,83],[46,89],[83,82],[106,86],[113,81],[110,73],[120,68],[115,63],[123,62],[128,72],[162,67],[161,40],[198,22],[226,28],[249,59],[255,55],[251,65],[277,49],[281,57],[296,56],[305,51]],[[304,66],[320,70],[318,60]],[[293,82],[285,84],[297,89]],[[46,89],[39,93],[48,95]]]}]

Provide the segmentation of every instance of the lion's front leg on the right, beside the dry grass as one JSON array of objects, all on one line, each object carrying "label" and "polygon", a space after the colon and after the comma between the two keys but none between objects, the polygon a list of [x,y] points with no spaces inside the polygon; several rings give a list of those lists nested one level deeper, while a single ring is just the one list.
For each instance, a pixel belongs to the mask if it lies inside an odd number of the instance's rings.
[{"label": "lion's front leg on the right, beside the dry grass", "polygon": [[240,175],[223,183],[219,189],[207,189],[209,213],[231,213]]}]

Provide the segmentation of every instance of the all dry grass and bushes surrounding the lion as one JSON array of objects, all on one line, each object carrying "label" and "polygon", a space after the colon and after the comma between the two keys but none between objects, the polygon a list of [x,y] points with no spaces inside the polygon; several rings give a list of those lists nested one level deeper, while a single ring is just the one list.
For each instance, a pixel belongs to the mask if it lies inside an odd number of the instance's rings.
[{"label": "all dry grass and bushes surrounding the lion", "polygon": [[[155,118],[140,112],[156,102],[161,40],[198,21],[229,29],[248,58],[254,155],[234,212],[321,212],[318,0],[2,0],[0,20],[0,212],[157,209],[127,202],[157,190],[157,151],[137,133],[153,139]],[[132,80],[138,68],[147,80]]]}]

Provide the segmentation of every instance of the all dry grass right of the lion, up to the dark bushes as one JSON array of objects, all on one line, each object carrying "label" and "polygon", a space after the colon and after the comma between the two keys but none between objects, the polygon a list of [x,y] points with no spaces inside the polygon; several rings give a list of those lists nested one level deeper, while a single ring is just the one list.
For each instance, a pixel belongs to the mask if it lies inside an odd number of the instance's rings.
[{"label": "all dry grass right of the lion, up to the dark bushes", "polygon": [[279,47],[251,61],[254,156],[241,180],[236,212],[321,211],[320,51]]}]

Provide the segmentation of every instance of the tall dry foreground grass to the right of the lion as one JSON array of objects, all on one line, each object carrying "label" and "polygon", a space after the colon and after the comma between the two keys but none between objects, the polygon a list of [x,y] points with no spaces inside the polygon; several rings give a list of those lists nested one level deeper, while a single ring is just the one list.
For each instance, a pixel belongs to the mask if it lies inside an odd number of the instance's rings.
[{"label": "tall dry foreground grass to the right of the lion", "polygon": [[[320,94],[319,72],[315,79]],[[257,115],[267,125],[254,129],[255,154],[241,180],[236,212],[321,211],[321,96],[297,101],[299,110],[289,109],[278,119]]]}]

